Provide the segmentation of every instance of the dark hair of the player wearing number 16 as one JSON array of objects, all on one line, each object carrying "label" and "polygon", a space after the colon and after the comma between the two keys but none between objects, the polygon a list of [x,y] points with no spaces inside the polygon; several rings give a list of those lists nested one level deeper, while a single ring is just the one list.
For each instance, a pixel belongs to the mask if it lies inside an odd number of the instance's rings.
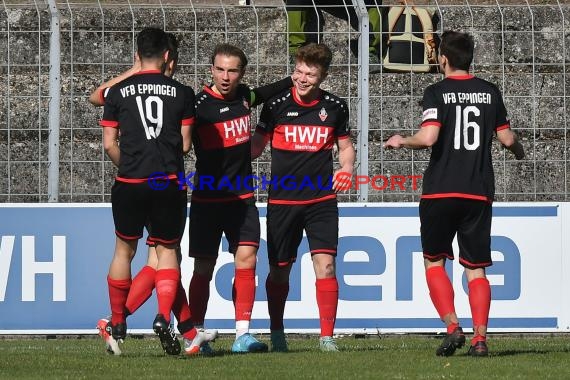
[{"label": "dark hair of the player wearing number 16", "polygon": [[446,30],[441,35],[439,54],[445,55],[449,65],[455,69],[469,71],[473,61],[475,43],[467,33]]}]

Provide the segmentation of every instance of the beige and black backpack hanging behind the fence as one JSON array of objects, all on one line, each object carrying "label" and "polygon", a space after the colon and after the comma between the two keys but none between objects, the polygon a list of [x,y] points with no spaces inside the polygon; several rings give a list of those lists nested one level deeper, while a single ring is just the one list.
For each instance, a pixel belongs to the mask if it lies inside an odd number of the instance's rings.
[{"label": "beige and black backpack hanging behind the fence", "polygon": [[386,71],[427,73],[437,71],[437,42],[433,8],[410,4],[390,7],[384,17]]}]

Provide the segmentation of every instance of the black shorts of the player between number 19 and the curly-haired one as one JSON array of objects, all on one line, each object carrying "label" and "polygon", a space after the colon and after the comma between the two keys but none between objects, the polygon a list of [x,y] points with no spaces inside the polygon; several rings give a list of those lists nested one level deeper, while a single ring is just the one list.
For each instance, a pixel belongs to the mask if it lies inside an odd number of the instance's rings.
[{"label": "black shorts of the player between number 19 and the curly-haired one", "polygon": [[217,257],[222,233],[230,253],[238,246],[259,247],[259,211],[255,199],[190,203],[190,257]]}]

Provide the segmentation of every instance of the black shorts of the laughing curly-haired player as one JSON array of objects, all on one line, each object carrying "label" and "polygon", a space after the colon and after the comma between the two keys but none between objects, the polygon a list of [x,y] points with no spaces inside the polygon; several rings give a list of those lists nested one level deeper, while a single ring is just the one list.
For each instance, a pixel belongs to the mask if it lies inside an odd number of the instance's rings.
[{"label": "black shorts of the laughing curly-haired player", "polygon": [[336,256],[338,203],[336,199],[308,205],[267,205],[267,253],[271,265],[297,260],[297,249],[307,233],[311,254]]}]

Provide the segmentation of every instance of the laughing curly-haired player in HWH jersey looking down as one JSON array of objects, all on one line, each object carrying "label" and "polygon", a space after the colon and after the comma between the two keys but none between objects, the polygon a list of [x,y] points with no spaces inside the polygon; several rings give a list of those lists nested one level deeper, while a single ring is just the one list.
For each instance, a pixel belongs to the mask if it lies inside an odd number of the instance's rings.
[{"label": "laughing curly-haired player in HWH jersey looking down", "polygon": [[[267,205],[269,276],[265,283],[273,351],[287,351],[283,312],[297,248],[307,233],[316,276],[323,351],[338,351],[333,331],[338,304],[336,174],[352,174],[355,152],[348,107],[320,88],[332,60],[323,44],[308,44],[295,56],[294,86],[265,103],[252,142],[252,157],[271,141],[271,187]],[[341,168],[333,177],[333,146]],[[335,178],[333,181],[332,178]],[[296,186],[291,186],[291,183]]]}]

